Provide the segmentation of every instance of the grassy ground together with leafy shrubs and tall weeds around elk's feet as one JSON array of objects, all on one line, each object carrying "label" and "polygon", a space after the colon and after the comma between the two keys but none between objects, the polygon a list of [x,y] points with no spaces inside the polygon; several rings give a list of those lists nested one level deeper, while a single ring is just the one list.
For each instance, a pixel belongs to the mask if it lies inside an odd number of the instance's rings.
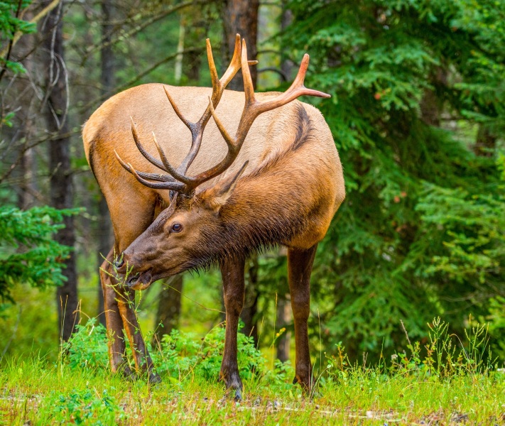
[{"label": "grassy ground together with leafy shrubs and tall weeds around elk's feet", "polygon": [[[104,330],[82,326],[60,360],[4,359],[0,422],[4,425],[447,425],[505,423],[505,373],[493,368],[485,327],[465,339],[435,320],[422,349],[379,366],[350,364],[344,349],[325,357],[313,398],[293,386],[293,368],[268,369],[249,339],[239,341],[244,401],[217,383],[223,332],[205,339],[175,332],[156,354],[163,382],[152,386],[109,373]],[[408,336],[406,336],[408,340]],[[156,351],[155,351],[156,352]],[[423,354],[422,356],[420,354]],[[387,366],[386,366],[387,364]]]}]

